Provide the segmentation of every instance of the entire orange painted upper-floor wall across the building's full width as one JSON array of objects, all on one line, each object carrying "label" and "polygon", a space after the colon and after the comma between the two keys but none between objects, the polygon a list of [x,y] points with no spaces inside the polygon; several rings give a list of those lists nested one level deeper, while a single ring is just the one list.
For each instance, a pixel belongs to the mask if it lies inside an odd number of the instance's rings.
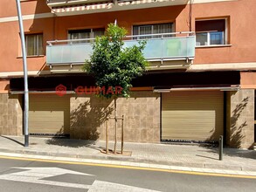
[{"label": "entire orange painted upper-floor wall across the building's full width", "polygon": [[[45,0],[31,0],[22,3],[23,14],[50,13]],[[7,4],[7,8],[3,6]],[[193,5],[192,29],[195,19],[209,17],[230,17],[231,47],[197,48],[195,65],[256,62],[256,18],[255,0],[239,0],[223,3],[200,3]],[[107,27],[118,20],[129,32],[133,24],[156,24],[175,22],[176,31],[189,31],[189,5],[150,8],[142,10],[124,10],[94,13],[69,17],[48,17],[24,20],[24,31],[43,32],[44,45],[53,39],[66,39],[70,29]],[[16,16],[15,1],[1,0],[0,17]],[[0,23],[0,72],[20,72],[22,58],[17,21]],[[28,58],[30,71],[38,71],[45,65],[45,57]]]}]

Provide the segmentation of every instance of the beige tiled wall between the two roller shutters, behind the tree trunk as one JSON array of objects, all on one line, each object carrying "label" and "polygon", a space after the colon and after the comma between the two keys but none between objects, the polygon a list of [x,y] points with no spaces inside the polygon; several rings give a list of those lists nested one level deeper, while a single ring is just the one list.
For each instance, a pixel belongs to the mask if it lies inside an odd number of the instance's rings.
[{"label": "beige tiled wall between the two roller shutters, behind the tree trunk", "polygon": [[[124,115],[124,141],[160,142],[160,95],[135,92],[118,98],[117,115]],[[114,99],[80,96],[71,98],[71,138],[106,139],[107,116],[114,117]],[[114,141],[114,120],[108,120],[109,140]],[[118,120],[121,140],[121,120]]]}]

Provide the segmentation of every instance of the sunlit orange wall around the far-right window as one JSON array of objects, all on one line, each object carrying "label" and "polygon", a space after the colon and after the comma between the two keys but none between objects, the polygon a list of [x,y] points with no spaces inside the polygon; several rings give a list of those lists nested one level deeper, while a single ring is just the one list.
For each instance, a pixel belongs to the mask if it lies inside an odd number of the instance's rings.
[{"label": "sunlit orange wall around the far-right window", "polygon": [[[256,62],[256,1],[201,3],[193,9],[193,20],[204,17],[230,16],[232,47],[197,48],[196,64]],[[193,24],[195,24],[193,22]],[[195,27],[193,27],[193,30]]]}]

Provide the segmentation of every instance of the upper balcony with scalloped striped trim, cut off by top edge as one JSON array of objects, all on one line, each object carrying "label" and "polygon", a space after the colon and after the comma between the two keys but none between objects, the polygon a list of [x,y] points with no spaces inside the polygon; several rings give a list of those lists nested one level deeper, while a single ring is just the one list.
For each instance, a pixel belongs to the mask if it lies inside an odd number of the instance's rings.
[{"label": "upper balcony with scalloped striped trim, cut off by top edge", "polygon": [[186,5],[190,0],[46,0],[52,12],[61,16]]}]

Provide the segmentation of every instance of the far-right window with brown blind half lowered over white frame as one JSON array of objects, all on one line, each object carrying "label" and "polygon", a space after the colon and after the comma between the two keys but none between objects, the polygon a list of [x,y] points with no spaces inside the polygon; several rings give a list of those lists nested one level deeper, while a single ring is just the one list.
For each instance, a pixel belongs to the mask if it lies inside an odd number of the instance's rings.
[{"label": "far-right window with brown blind half lowered over white frame", "polygon": [[225,19],[196,21],[197,46],[225,45]]}]

